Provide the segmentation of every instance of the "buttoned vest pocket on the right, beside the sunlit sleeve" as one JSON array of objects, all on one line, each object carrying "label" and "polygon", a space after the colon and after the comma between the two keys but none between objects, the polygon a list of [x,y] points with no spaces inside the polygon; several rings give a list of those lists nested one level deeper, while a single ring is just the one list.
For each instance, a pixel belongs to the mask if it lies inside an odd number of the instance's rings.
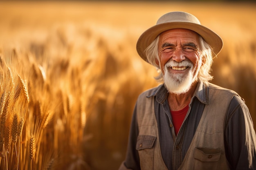
[{"label": "buttoned vest pocket on the right, beside the sunlit sleeve", "polygon": [[216,170],[221,150],[212,148],[195,148],[195,170]]}]

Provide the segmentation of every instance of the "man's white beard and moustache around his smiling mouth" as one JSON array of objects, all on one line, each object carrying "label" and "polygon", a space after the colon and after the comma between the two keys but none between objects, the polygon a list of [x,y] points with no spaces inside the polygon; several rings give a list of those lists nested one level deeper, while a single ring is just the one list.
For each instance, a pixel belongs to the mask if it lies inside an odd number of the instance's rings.
[{"label": "man's white beard and moustache around his smiling mouth", "polygon": [[[200,63],[200,62],[199,62]],[[199,64],[200,65],[200,64]],[[176,73],[170,74],[168,69],[169,67],[176,66],[176,67],[183,67],[188,66],[189,73]],[[186,93],[191,88],[193,82],[195,81],[195,77],[197,77],[200,67],[196,69],[193,68],[193,63],[189,60],[184,60],[182,62],[175,62],[174,60],[170,60],[164,66],[164,85],[169,93],[174,93],[177,95]]]}]

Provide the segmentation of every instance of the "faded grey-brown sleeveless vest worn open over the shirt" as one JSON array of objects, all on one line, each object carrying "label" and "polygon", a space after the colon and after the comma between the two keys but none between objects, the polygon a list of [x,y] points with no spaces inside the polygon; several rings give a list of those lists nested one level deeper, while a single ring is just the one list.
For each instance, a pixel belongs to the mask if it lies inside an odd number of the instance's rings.
[{"label": "faded grey-brown sleeveless vest worn open over the shirt", "polygon": [[[198,128],[178,170],[229,170],[224,127],[227,109],[237,94],[213,84],[209,84],[208,88],[209,105],[204,107]],[[150,91],[140,95],[137,103],[139,136],[136,149],[141,170],[168,170],[159,144],[154,97],[146,97],[148,94]]]}]

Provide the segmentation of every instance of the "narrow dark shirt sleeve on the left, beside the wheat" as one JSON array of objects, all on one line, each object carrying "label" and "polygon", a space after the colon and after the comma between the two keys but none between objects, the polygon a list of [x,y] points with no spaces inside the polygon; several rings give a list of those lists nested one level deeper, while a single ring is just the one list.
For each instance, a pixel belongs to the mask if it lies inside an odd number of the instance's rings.
[{"label": "narrow dark shirt sleeve on the left, beside the wheat", "polygon": [[132,115],[130,134],[128,139],[128,147],[126,151],[126,159],[123,162],[124,164],[123,166],[131,170],[140,170],[139,154],[138,154],[138,151],[136,150],[137,136],[139,134],[136,108],[137,108],[137,104],[135,105],[135,109]]}]

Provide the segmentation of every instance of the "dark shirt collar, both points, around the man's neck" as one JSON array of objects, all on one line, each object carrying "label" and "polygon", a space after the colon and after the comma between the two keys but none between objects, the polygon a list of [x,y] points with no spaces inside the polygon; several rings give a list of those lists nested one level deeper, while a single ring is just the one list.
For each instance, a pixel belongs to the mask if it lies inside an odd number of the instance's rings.
[{"label": "dark shirt collar, both points, around the man's neck", "polygon": [[[198,85],[195,89],[195,93],[194,93],[192,99],[194,97],[197,97],[201,103],[208,105],[209,104],[209,92],[208,91],[209,91],[209,89],[208,89],[208,85],[206,83],[198,82]],[[151,91],[151,93],[147,97],[149,98],[152,96],[156,96],[157,102],[159,102],[160,104],[163,104],[163,102],[166,100],[166,98],[168,96],[168,91],[164,87],[164,84],[161,84],[158,87],[156,87],[153,91]]]}]

